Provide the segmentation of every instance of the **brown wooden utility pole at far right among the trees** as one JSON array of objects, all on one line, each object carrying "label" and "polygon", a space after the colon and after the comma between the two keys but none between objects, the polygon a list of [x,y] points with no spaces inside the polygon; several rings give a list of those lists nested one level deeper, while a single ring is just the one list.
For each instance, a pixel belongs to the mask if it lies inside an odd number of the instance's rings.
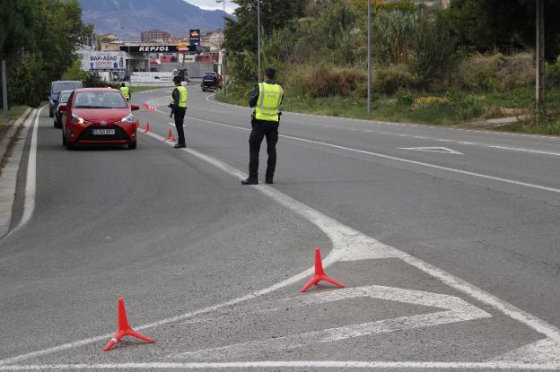
[{"label": "brown wooden utility pole at far right among the trees", "polygon": [[547,104],[545,98],[545,2],[535,0],[537,8],[537,42],[535,46],[536,70],[536,99],[539,118],[547,117]]}]

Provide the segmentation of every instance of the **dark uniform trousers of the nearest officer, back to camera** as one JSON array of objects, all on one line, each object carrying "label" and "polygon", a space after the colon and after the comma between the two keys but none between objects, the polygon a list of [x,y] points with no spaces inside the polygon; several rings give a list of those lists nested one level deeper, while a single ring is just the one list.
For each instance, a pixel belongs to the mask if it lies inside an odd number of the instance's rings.
[{"label": "dark uniform trousers of the nearest officer, back to camera", "polygon": [[278,142],[277,121],[252,120],[253,130],[249,135],[249,178],[258,179],[258,152],[264,137],[267,137],[267,179],[274,177],[276,169],[276,143]]}]

